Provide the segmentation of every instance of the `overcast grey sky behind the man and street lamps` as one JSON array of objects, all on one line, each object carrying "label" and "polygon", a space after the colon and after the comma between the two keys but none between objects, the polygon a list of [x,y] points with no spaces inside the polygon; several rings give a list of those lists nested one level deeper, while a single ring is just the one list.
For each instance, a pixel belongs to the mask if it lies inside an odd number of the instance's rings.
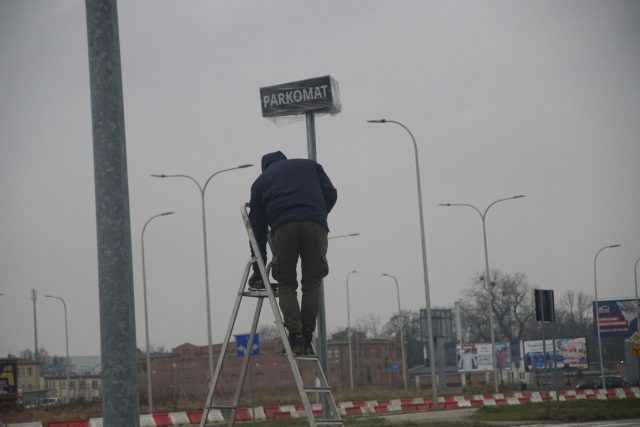
[{"label": "overcast grey sky behind the man and street lamps", "polygon": [[[559,298],[633,295],[640,256],[640,3],[625,1],[131,1],[119,3],[138,346],[140,232],[151,342],[206,343],[195,185],[262,154],[306,157],[304,121],[260,115],[259,88],[330,74],[343,111],[316,121],[318,160],[338,188],[330,217],[327,326],[424,306],[413,148],[419,144],[431,297],[460,298],[483,270],[522,272]],[[0,354],[38,343],[99,354],[94,183],[82,1],[0,0]],[[258,167],[207,190],[214,342],[222,339],[247,238],[239,208]],[[252,305],[247,306],[252,307]],[[267,313],[266,310],[265,313]],[[263,323],[271,316],[265,314]],[[244,311],[238,331],[249,327]]]}]

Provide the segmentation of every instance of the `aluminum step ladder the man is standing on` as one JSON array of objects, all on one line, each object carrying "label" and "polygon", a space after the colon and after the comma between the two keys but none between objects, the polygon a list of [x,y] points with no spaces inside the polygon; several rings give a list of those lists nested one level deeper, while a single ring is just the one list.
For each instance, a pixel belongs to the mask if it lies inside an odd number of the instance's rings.
[{"label": "aluminum step ladder the man is standing on", "polygon": [[[287,332],[284,327],[284,322],[282,320],[282,315],[280,314],[280,307],[276,302],[276,296],[274,295],[273,289],[271,287],[271,283],[269,281],[269,270],[271,269],[271,264],[265,266],[263,262],[263,258],[260,256],[260,249],[258,248],[258,242],[253,234],[253,230],[251,229],[251,224],[249,222],[249,214],[248,214],[248,206],[249,204],[245,204],[241,208],[242,220],[244,222],[245,228],[247,230],[247,234],[249,235],[249,243],[251,244],[251,248],[253,249],[253,253],[255,257],[251,258],[247,265],[244,268],[244,273],[242,275],[242,281],[240,282],[240,288],[238,289],[238,295],[236,297],[236,302],[233,306],[233,311],[231,313],[231,318],[229,319],[229,326],[227,327],[227,333],[224,338],[224,342],[222,344],[222,348],[220,350],[220,355],[218,356],[218,363],[216,365],[216,370],[213,374],[213,378],[211,380],[211,385],[209,388],[209,393],[207,396],[207,401],[204,405],[204,410],[202,412],[202,417],[200,418],[200,427],[205,427],[207,424],[207,419],[209,417],[209,412],[212,409],[217,409],[220,411],[229,411],[229,426],[232,426],[235,422],[236,412],[238,410],[238,404],[240,402],[240,396],[242,395],[242,388],[244,385],[244,380],[247,374],[247,367],[249,366],[249,361],[251,359],[253,342],[255,339],[256,329],[258,327],[258,321],[260,320],[260,313],[262,311],[262,304],[266,299],[269,300],[271,305],[271,310],[273,311],[273,317],[275,318],[276,325],[278,327],[278,331],[280,332],[280,337],[284,344],[285,353],[289,365],[291,366],[291,372],[293,373],[293,378],[295,380],[296,386],[298,388],[298,393],[300,394],[300,399],[302,400],[302,404],[304,406],[304,411],[306,413],[307,420],[309,422],[309,426],[344,426],[344,423],[340,417],[340,412],[336,406],[335,400],[333,399],[333,394],[331,393],[331,386],[329,385],[327,378],[322,370],[322,366],[320,365],[320,360],[318,356],[296,356],[291,351],[291,345],[289,344],[289,339],[287,338]],[[265,290],[252,291],[249,290],[248,287],[248,278],[249,273],[251,272],[253,263],[258,264],[258,269],[260,270],[260,275],[262,277],[262,282],[265,284]],[[221,405],[215,402],[215,392],[218,386],[218,381],[220,379],[220,374],[222,372],[222,368],[224,365],[225,355],[227,354],[227,347],[229,346],[229,342],[231,340],[231,334],[233,333],[233,328],[238,317],[238,311],[240,309],[240,303],[243,298],[255,298],[257,300],[256,310],[253,316],[253,322],[251,324],[251,332],[249,333],[249,341],[247,345],[247,350],[245,351],[244,357],[242,359],[242,366],[240,368],[240,375],[238,376],[238,383],[236,385],[235,394],[233,397],[232,403],[229,405]],[[315,354],[315,351],[314,351]],[[284,357],[284,355],[283,355]],[[313,365],[314,371],[317,376],[317,383],[314,385],[305,385],[302,380],[302,376],[300,375],[300,367],[298,363],[311,363]],[[319,396],[322,397],[323,402],[323,411],[321,417],[314,417],[313,415],[313,407],[309,402],[308,393],[318,393]]]}]

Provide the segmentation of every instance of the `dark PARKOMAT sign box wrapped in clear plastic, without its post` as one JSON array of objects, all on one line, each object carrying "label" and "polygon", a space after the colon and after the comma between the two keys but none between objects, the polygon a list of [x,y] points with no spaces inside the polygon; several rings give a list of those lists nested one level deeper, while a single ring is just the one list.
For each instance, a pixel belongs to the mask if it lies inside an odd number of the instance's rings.
[{"label": "dark PARKOMAT sign box wrapped in clear plastic, without its post", "polygon": [[331,76],[260,88],[262,117],[297,116],[308,112],[338,114],[338,82]]}]

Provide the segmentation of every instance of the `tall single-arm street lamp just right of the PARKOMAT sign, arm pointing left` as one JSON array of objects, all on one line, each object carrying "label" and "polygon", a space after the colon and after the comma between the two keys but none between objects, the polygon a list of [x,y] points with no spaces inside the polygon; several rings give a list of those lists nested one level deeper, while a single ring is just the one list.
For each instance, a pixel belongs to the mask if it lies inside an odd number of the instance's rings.
[{"label": "tall single-arm street lamp just right of the PARKOMAT sign, arm pointing left", "polygon": [[422,241],[422,271],[424,277],[424,296],[427,310],[427,337],[429,340],[429,370],[431,372],[431,393],[432,393],[432,402],[433,408],[438,409],[438,390],[436,384],[436,370],[435,370],[435,351],[433,349],[433,322],[431,319],[431,297],[429,296],[429,274],[427,271],[427,245],[425,242],[425,232],[424,232],[424,214],[422,210],[422,188],[420,186],[420,164],[418,162],[418,144],[416,144],[416,139],[413,134],[409,130],[408,127],[403,125],[400,122],[396,122],[395,120],[387,120],[387,119],[378,119],[378,120],[367,120],[369,123],[394,123],[404,130],[407,131],[409,136],[411,137],[411,141],[413,142],[413,150],[415,154],[416,160],[416,181],[418,184],[418,211],[420,214],[420,238]]}]

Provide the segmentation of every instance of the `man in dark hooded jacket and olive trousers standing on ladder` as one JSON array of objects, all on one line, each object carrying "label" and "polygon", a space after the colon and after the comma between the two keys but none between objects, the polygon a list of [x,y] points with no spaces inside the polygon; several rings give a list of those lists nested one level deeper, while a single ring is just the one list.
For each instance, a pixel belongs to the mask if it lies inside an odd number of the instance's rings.
[{"label": "man in dark hooded jacket and olive trousers standing on ladder", "polygon": [[[249,220],[266,264],[269,228],[272,268],[278,282],[280,310],[296,355],[313,354],[312,339],[327,263],[327,215],[338,193],[322,166],[313,160],[287,159],[280,151],[262,157],[262,174],[251,186]],[[252,251],[253,252],[253,251]],[[301,260],[302,303],[297,297],[297,264]],[[250,289],[264,288],[257,263]]]}]

